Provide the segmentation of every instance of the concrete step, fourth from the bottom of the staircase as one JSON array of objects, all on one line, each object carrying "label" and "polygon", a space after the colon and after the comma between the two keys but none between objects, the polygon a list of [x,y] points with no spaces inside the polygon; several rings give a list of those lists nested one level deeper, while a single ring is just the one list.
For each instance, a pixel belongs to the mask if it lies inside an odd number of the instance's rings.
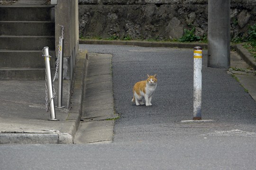
[{"label": "concrete step, fourth from the bottom of the staircase", "polygon": [[54,36],[54,21],[0,21],[0,35]]}]

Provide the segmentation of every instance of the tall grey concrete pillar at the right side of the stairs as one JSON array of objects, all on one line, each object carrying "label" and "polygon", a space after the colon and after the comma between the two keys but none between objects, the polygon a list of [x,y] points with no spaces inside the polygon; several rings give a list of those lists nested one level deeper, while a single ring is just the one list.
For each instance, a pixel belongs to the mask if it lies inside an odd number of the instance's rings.
[{"label": "tall grey concrete pillar at the right side of the stairs", "polygon": [[[58,0],[55,6],[55,46],[59,45],[61,26],[64,26],[64,79],[73,77],[78,47],[78,0]],[[55,50],[56,56],[58,50]]]}]

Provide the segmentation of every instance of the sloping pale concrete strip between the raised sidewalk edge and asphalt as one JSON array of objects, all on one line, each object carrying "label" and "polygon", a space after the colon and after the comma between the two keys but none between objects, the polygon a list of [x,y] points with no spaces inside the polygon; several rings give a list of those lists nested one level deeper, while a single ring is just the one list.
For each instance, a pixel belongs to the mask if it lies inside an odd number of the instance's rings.
[{"label": "sloping pale concrete strip between the raised sidewalk edge and asphalt", "polygon": [[82,117],[75,144],[110,143],[113,140],[114,110],[111,54],[88,53]]}]

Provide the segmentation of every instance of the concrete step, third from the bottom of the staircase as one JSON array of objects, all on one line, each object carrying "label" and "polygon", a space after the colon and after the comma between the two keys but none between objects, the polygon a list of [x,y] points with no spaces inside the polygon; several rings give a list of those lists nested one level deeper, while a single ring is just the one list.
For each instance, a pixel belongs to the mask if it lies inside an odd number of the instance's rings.
[{"label": "concrete step, third from the bottom of the staircase", "polygon": [[1,50],[55,50],[55,36],[0,36]]}]

